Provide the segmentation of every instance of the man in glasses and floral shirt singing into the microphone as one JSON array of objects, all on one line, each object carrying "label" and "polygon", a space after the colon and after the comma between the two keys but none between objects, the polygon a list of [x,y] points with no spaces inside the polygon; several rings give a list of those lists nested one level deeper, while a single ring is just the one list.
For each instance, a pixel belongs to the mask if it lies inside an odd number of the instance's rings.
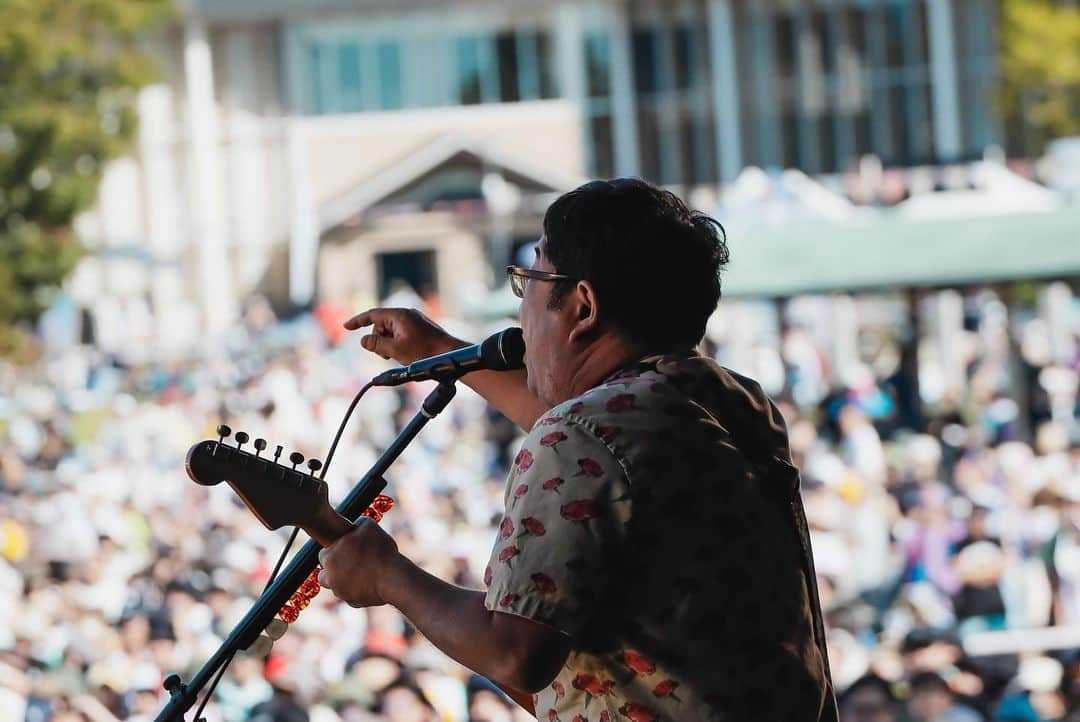
[{"label": "man in glasses and floral shirt singing into the microphone", "polygon": [[[723,229],[636,179],[549,208],[522,298],[526,371],[464,381],[530,430],[507,480],[486,591],[420,570],[375,523],[320,582],[393,604],[541,720],[836,720],[809,536],[777,408],[699,355]],[[368,351],[465,345],[378,309]]]}]

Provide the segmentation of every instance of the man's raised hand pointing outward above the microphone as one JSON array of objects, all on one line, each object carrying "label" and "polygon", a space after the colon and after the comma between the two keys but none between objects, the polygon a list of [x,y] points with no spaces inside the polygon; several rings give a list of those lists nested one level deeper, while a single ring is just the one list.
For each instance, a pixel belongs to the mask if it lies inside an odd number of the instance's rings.
[{"label": "man's raised hand pointing outward above the microphone", "polygon": [[349,330],[372,326],[361,344],[402,366],[469,345],[415,309],[372,309],[345,322]]}]

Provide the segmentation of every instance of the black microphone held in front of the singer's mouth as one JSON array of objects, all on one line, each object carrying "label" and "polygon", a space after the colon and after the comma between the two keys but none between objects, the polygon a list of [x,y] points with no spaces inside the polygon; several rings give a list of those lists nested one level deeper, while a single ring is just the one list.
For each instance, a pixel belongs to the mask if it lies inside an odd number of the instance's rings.
[{"label": "black microphone held in front of the singer's mouth", "polygon": [[450,381],[470,371],[512,371],[525,368],[525,337],[522,329],[507,328],[483,342],[429,356],[383,371],[372,379],[373,386],[397,386],[407,381]]}]

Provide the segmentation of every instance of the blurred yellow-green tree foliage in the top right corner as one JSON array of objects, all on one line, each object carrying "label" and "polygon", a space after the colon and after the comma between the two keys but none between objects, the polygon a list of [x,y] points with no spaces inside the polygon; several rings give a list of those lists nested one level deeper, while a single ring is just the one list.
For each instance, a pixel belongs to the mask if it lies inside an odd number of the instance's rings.
[{"label": "blurred yellow-green tree foliage in the top right corner", "polygon": [[1052,138],[1080,134],[1080,6],[1002,0],[1000,100],[1035,153]]}]

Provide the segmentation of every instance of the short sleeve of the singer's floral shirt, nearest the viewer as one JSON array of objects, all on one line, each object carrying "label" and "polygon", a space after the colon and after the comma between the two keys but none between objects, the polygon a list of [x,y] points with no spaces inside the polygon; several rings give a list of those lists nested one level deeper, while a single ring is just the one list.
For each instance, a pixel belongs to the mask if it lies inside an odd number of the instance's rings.
[{"label": "short sleeve of the singer's floral shirt, nearest the viewer", "polygon": [[510,473],[485,571],[487,609],[578,636],[613,582],[631,504],[623,467],[598,435],[542,419]]}]

